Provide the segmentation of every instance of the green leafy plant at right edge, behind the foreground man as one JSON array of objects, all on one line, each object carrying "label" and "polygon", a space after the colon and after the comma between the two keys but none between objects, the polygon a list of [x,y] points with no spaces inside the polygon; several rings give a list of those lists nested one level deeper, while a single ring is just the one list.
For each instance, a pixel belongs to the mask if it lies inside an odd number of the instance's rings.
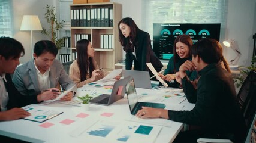
[{"label": "green leafy plant at right edge, behind the foreground man", "polygon": [[245,70],[241,70],[241,73],[238,77],[234,77],[234,83],[236,84],[237,88],[243,85],[243,82],[245,81],[246,77],[248,76],[251,70],[256,71],[256,67],[254,65],[255,63],[256,63],[256,56],[252,57],[251,66],[245,67]]}]

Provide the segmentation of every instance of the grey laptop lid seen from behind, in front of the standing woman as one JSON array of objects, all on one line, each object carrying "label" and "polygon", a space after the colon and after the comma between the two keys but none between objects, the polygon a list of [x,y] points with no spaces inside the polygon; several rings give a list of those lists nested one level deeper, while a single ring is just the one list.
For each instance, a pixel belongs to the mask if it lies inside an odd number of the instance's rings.
[{"label": "grey laptop lid seen from behind, in front of the standing woman", "polygon": [[123,77],[131,76],[137,88],[152,89],[149,71],[122,70]]}]

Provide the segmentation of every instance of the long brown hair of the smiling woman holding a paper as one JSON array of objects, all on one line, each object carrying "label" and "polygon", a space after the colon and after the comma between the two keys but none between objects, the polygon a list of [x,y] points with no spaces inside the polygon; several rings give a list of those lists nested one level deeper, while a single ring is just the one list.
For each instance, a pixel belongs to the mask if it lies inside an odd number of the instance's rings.
[{"label": "long brown hair of the smiling woman holding a paper", "polygon": [[[173,58],[174,58],[173,64],[174,65],[177,63],[177,61],[181,60],[181,58],[179,57],[179,55],[176,52],[176,43],[177,42],[182,42],[185,45],[187,45],[188,49],[189,49],[189,52],[190,52],[191,47],[193,45],[192,39],[189,35],[179,35],[179,36],[177,36],[177,38],[174,40],[174,44],[173,44]],[[174,73],[176,73],[176,66],[174,66]]]}]

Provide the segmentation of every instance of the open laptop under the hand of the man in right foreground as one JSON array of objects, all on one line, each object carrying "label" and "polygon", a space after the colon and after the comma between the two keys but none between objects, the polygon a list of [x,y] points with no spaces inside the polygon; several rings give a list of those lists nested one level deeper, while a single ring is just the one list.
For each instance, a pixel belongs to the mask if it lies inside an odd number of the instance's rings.
[{"label": "open laptop under the hand of the man in right foreground", "polygon": [[152,108],[165,108],[165,104],[162,103],[138,102],[138,95],[135,89],[133,78],[131,78],[131,80],[129,80],[129,82],[125,86],[125,91],[127,92],[129,109],[132,115],[135,115],[137,111],[142,108],[142,106]]}]

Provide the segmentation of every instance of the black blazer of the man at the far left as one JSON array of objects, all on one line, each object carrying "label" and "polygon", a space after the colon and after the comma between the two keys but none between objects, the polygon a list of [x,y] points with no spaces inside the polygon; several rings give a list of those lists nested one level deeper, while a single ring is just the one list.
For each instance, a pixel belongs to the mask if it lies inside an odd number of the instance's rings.
[{"label": "black blazer of the man at the far left", "polygon": [[37,96],[23,96],[19,91],[15,88],[13,81],[11,80],[10,74],[5,74],[5,78],[7,82],[4,81],[6,91],[8,92],[8,104],[7,109],[11,109],[14,107],[23,107],[25,105],[38,103]]}]

